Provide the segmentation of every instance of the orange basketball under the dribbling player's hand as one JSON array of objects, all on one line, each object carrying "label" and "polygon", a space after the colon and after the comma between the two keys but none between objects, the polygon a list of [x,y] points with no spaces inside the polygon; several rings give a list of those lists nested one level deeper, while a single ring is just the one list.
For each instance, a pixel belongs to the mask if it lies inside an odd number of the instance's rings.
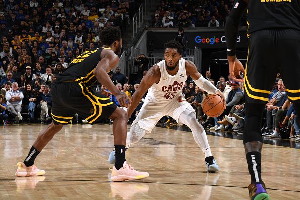
[{"label": "orange basketball under the dribbling player's hand", "polygon": [[202,110],[209,117],[218,117],[220,116],[226,108],[221,102],[221,97],[218,95],[208,95],[205,97]]}]

